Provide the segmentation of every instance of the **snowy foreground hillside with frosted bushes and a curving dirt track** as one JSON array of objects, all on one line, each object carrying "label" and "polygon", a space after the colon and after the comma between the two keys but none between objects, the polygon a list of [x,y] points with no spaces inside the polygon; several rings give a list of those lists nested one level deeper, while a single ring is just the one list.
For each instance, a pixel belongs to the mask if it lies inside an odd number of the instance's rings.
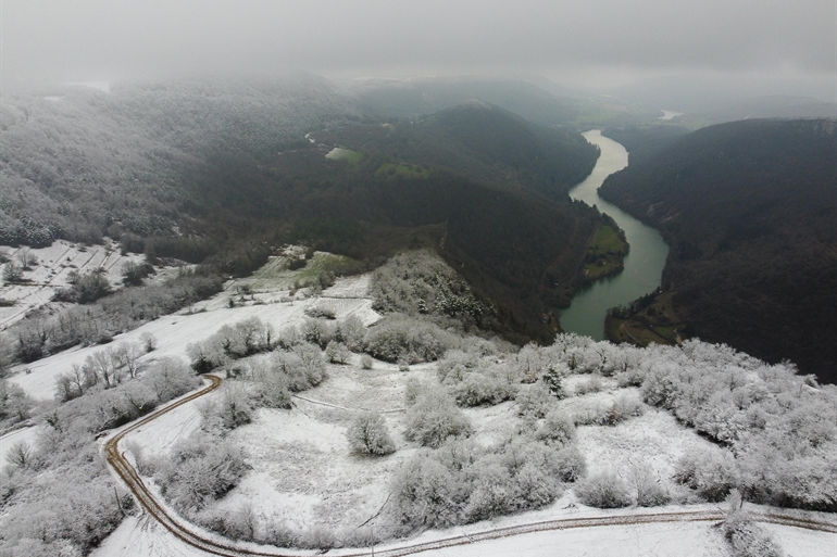
[{"label": "snowy foreground hillside with frosted bushes and a curving dirt track", "polygon": [[[0,428],[25,428],[0,444],[4,553],[497,555],[491,540],[539,532],[571,555],[614,534],[641,543],[604,554],[647,555],[685,532],[716,555],[737,528],[828,555],[833,387],[698,341],[520,349],[437,325],[470,292],[429,253],[325,290],[293,284],[334,256],[293,270],[297,254],[0,381]],[[429,311],[387,308],[428,288]]]}]

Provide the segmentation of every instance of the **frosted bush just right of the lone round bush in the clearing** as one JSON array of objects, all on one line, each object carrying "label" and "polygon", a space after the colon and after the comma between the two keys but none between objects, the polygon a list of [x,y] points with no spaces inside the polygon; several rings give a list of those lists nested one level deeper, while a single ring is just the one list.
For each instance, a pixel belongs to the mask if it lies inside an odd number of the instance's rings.
[{"label": "frosted bush just right of the lone round bush in the clearing", "polygon": [[437,447],[449,436],[471,434],[472,429],[471,420],[457,408],[448,393],[429,389],[408,409],[404,436],[424,446]]}]

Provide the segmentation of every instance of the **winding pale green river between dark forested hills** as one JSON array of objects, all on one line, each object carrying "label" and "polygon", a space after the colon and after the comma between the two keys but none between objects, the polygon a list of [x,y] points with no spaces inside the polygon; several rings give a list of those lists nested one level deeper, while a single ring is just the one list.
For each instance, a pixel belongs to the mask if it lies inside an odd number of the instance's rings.
[{"label": "winding pale green river between dark forested hills", "polygon": [[570,307],[561,312],[561,328],[566,332],[602,340],[608,309],[626,305],[660,286],[669,246],[655,229],[599,197],[599,186],[604,178],[627,166],[628,154],[625,148],[602,136],[598,129],[585,132],[584,137],[599,145],[601,155],[587,179],[570,190],[570,197],[596,205],[599,211],[613,217],[625,231],[630,252],[625,257],[625,269],[622,273],[598,280],[573,296]]}]

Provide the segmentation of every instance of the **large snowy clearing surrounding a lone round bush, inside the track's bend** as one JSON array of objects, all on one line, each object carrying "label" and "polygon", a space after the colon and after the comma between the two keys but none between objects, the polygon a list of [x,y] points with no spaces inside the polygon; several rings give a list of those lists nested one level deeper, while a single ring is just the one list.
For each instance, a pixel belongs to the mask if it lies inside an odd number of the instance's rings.
[{"label": "large snowy clearing surrounding a lone round bush, inside the track's bend", "polygon": [[[329,366],[329,378],[301,393],[292,410],[259,410],[253,423],[230,434],[247,447],[253,473],[220,507],[235,510],[249,502],[263,519],[298,530],[362,524],[384,505],[390,478],[417,450],[402,434],[403,387],[409,377],[427,372],[428,366],[404,374],[380,362],[372,370]],[[386,412],[398,451],[355,456],[347,428],[359,412],[373,408]]]}]

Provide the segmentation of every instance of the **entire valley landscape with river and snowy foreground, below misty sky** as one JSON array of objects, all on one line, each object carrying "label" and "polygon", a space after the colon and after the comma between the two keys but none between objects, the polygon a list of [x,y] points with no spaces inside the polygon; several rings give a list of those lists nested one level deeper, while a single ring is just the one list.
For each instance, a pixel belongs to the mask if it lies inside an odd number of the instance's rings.
[{"label": "entire valley landscape with river and snowy foreground, below misty sky", "polygon": [[0,109],[3,555],[829,554],[833,121],[308,74]]}]

